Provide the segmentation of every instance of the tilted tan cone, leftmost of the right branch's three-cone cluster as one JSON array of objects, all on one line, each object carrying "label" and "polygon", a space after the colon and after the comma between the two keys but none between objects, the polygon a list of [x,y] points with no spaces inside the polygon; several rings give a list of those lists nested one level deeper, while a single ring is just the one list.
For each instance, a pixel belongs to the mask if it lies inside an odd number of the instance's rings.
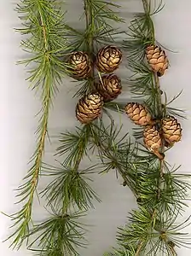
[{"label": "tilted tan cone, leftmost of the right branch's three-cone cluster", "polygon": [[125,107],[125,112],[136,125],[152,124],[151,114],[147,108],[139,103],[130,102]]}]

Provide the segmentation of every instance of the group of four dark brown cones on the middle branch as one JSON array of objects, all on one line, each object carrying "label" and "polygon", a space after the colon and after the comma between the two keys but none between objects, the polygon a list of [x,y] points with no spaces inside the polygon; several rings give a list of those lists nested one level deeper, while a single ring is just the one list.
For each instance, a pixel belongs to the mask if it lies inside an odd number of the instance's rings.
[{"label": "group of four dark brown cones on the middle branch", "polygon": [[122,53],[115,46],[106,46],[100,49],[96,55],[95,63],[90,56],[82,51],[74,52],[69,56],[71,74],[74,79],[88,79],[92,76],[92,69],[96,69],[102,75],[95,82],[94,91],[82,97],[76,107],[77,119],[82,124],[89,124],[101,115],[104,102],[113,101],[121,93],[121,80],[113,73],[122,61]]}]

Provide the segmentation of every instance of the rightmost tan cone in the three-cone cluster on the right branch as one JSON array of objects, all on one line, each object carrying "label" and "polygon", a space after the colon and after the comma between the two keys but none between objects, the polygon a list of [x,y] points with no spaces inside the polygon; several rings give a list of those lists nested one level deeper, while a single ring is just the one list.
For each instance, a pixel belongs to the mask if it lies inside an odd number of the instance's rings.
[{"label": "rightmost tan cone in the three-cone cluster on the right branch", "polygon": [[181,140],[182,128],[173,116],[162,119],[162,131],[165,142],[172,146]]}]

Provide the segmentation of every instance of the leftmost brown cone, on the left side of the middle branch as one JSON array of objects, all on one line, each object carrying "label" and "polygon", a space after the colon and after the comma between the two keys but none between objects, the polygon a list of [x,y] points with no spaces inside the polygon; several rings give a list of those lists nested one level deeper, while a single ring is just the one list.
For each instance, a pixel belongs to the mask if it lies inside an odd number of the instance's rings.
[{"label": "leftmost brown cone, on the left side of the middle branch", "polygon": [[71,71],[74,79],[85,79],[90,76],[91,61],[89,55],[85,52],[73,52],[69,56],[68,62],[72,66]]}]

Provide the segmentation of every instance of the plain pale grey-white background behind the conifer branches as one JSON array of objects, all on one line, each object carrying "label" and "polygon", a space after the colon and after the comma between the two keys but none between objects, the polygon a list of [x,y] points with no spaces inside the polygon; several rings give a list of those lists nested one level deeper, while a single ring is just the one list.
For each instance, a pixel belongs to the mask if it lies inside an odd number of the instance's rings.
[{"label": "plain pale grey-white background behind the conifer branches", "polygon": [[[72,26],[80,26],[78,13],[81,11],[81,1],[68,0],[67,9],[70,10],[68,18]],[[132,15],[130,12],[140,9],[141,0],[119,1],[123,5],[121,15],[126,18],[127,27]],[[20,34],[14,32],[14,27],[20,26],[20,20],[14,12],[16,1],[1,0],[0,3],[0,104],[1,104],[1,177],[0,177],[0,211],[11,213],[19,210],[14,205],[14,189],[20,185],[22,177],[28,168],[27,162],[35,148],[34,131],[38,125],[38,119],[34,116],[38,113],[40,102],[34,93],[28,89],[26,70],[16,66],[15,62],[25,55],[20,49]],[[154,17],[156,36],[160,44],[177,53],[168,51],[171,67],[161,79],[161,87],[170,96],[177,95],[183,89],[182,96],[174,103],[174,107],[188,110],[188,120],[182,121],[183,138],[168,154],[171,164],[182,165],[181,172],[191,173],[191,1],[190,0],[165,0],[165,9]],[[125,79],[125,68],[121,68],[120,75]],[[60,94],[55,99],[54,111],[49,122],[50,136],[58,135],[61,131],[72,129],[78,122],[74,116],[74,108],[77,102],[72,99],[75,90],[74,84],[64,81],[60,88]],[[128,86],[124,84],[124,92],[121,98],[128,99]],[[118,116],[117,116],[118,118]],[[125,130],[130,130],[130,122],[124,118]],[[53,162],[53,154],[56,139],[52,138],[47,145],[46,160]],[[85,166],[84,162],[84,166]],[[114,173],[95,177],[94,189],[101,196],[102,203],[96,203],[96,210],[90,211],[84,221],[91,224],[87,237],[90,246],[81,250],[81,255],[98,256],[108,251],[115,245],[117,227],[123,225],[127,213],[136,207],[136,202],[129,189],[124,189],[121,180],[116,181]],[[44,183],[39,184],[39,189]],[[190,202],[188,202],[191,207]],[[191,213],[186,209],[184,217]],[[42,205],[35,202],[34,219],[40,220],[48,215]],[[9,218],[0,215],[0,239],[9,234]],[[0,255],[32,255],[25,248],[19,252],[8,248],[9,243],[0,242]],[[178,249],[178,255],[191,255],[191,250]]]}]

